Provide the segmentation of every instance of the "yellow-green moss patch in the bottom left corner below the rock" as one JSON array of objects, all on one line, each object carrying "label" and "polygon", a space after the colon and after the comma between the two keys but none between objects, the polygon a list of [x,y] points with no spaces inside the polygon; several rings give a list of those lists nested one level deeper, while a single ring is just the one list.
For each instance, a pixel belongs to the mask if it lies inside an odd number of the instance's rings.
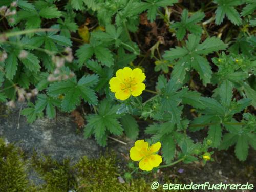
[{"label": "yellow-green moss patch in the bottom left corner below the rock", "polygon": [[0,189],[2,191],[35,191],[26,172],[23,153],[13,144],[0,139]]}]

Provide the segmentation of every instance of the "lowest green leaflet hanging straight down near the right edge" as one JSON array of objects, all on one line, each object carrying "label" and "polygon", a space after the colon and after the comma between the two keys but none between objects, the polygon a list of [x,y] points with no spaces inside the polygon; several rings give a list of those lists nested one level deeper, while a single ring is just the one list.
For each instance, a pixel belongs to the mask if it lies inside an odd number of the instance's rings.
[{"label": "lowest green leaflet hanging straight down near the right edge", "polygon": [[236,153],[236,156],[240,161],[246,160],[248,155],[248,149],[249,144],[247,135],[239,135],[234,152]]}]

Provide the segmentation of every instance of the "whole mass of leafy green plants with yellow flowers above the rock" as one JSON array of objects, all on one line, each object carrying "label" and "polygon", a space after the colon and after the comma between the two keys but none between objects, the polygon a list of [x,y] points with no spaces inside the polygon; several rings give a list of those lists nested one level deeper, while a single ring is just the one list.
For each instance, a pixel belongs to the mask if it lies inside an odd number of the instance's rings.
[{"label": "whole mass of leafy green plants with yellow flowers above the rock", "polygon": [[231,146],[245,161],[256,149],[255,9],[252,0],[3,0],[0,101],[26,102],[29,123],[71,113],[103,147],[138,140],[130,157],[145,171],[206,163]]}]

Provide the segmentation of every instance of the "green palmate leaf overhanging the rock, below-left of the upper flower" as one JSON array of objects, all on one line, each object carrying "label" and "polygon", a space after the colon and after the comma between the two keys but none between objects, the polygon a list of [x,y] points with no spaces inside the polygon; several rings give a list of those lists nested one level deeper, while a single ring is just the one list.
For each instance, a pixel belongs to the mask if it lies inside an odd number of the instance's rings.
[{"label": "green palmate leaf overhanging the rock, below-left of the upper flower", "polygon": [[120,115],[117,114],[119,105],[111,105],[106,99],[100,102],[98,114],[90,114],[86,117],[87,125],[84,128],[86,138],[94,134],[96,141],[101,146],[106,146],[106,136],[108,132],[114,135],[121,135],[122,126],[118,121]]}]

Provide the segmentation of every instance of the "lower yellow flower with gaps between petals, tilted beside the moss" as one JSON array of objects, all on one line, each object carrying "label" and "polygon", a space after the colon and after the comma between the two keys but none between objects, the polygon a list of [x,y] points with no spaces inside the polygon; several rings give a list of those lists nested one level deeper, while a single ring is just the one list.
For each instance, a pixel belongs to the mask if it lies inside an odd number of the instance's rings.
[{"label": "lower yellow flower with gaps between petals, tilted beside the moss", "polygon": [[158,167],[163,161],[162,157],[157,155],[160,148],[160,142],[148,146],[148,142],[138,140],[130,150],[130,157],[134,161],[140,161],[139,167],[141,170],[150,171],[154,167]]}]

